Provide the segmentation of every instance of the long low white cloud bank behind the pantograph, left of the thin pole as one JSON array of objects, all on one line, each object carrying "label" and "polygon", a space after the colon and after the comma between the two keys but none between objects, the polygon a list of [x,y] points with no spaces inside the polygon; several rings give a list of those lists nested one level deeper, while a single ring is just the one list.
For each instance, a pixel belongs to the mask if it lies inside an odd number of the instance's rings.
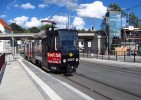
[{"label": "long low white cloud bank behind the pantograph, left of the thin pole", "polygon": [[[48,20],[48,19],[49,19],[49,17],[43,18],[43,19],[38,19],[36,17],[32,17],[31,19],[29,19],[29,17],[27,17],[27,16],[21,16],[21,17],[16,17],[14,19],[11,19],[9,22],[16,23],[24,28],[31,28],[31,27],[40,27],[42,25],[47,24],[47,23],[41,23],[41,20]],[[58,15],[53,16],[52,19],[50,19],[50,20],[56,21],[57,28],[66,28],[66,24],[68,22],[68,19],[66,16],[58,16]]]}]

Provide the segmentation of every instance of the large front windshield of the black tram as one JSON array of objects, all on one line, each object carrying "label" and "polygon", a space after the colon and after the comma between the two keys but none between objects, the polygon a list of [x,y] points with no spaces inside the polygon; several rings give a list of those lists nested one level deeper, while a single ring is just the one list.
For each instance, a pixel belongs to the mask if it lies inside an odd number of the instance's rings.
[{"label": "large front windshield of the black tram", "polygon": [[60,42],[64,50],[77,50],[78,49],[78,34],[77,32],[60,32]]}]

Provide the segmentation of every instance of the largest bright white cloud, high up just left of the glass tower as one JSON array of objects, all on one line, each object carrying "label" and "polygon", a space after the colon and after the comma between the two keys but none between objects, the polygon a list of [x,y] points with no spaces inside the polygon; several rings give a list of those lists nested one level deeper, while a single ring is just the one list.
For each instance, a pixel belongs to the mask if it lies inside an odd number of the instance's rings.
[{"label": "largest bright white cloud, high up just left of the glass tower", "polygon": [[105,15],[107,7],[101,1],[95,1],[91,4],[80,4],[77,9],[77,15],[89,18],[102,18]]}]

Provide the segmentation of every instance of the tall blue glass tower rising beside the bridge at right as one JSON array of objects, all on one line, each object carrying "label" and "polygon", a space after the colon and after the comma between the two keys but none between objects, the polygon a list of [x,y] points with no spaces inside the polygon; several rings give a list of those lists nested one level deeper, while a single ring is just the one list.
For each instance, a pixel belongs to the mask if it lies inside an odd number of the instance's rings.
[{"label": "tall blue glass tower rising beside the bridge at right", "polygon": [[109,11],[107,15],[109,50],[114,50],[115,47],[120,45],[119,39],[121,38],[122,28],[121,12]]}]

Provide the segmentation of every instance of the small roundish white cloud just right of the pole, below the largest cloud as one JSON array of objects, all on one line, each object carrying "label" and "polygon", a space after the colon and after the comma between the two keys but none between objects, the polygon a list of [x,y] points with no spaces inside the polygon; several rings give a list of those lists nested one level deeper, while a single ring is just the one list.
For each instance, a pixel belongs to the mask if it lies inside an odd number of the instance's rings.
[{"label": "small roundish white cloud just right of the pole, below the largest cloud", "polygon": [[76,27],[77,29],[84,28],[85,22],[81,17],[75,17],[74,21],[72,23],[73,27]]}]

